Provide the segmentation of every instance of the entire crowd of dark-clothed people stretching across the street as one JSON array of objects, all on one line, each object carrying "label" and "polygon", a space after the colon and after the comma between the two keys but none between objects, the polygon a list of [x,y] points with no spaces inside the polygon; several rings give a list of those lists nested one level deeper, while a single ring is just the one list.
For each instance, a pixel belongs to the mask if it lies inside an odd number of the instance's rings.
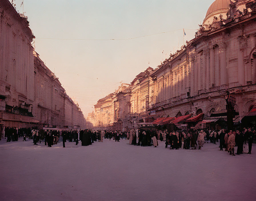
[{"label": "entire crowd of dark-clothed people stretching across the street", "polygon": [[[33,139],[33,144],[44,140],[45,145],[51,147],[57,144],[60,136],[63,138],[63,147],[65,142],[75,142],[75,145],[81,141],[81,146],[88,146],[94,142],[103,142],[103,139],[115,140],[119,142],[120,139],[129,140],[129,144],[137,146],[158,146],[158,140],[165,142],[165,148],[178,150],[183,149],[201,149],[204,143],[219,142],[220,150],[225,148],[231,155],[235,156],[234,147],[237,146],[236,154],[243,154],[244,144],[248,142],[248,154],[251,154],[252,143],[255,137],[254,128],[244,128],[242,132],[239,130],[227,131],[221,130],[196,130],[183,129],[168,132],[168,130],[158,130],[156,128],[147,129],[131,129],[129,131],[120,130],[91,130],[91,129],[72,129],[72,130],[58,130],[58,129],[37,129],[37,128],[16,128],[5,127],[3,136],[7,138],[7,142],[18,141],[23,138],[23,141]],[[0,138],[0,140],[1,140]]]}]

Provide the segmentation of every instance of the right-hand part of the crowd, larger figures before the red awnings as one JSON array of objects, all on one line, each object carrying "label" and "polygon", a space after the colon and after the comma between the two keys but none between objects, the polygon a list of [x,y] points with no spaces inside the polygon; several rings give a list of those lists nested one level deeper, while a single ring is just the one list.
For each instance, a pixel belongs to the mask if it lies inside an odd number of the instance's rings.
[{"label": "right-hand part of the crowd, larger figures before the red awnings", "polygon": [[[137,142],[138,137],[138,142]],[[236,154],[243,154],[244,143],[248,141],[248,154],[251,154],[252,143],[255,137],[253,128],[244,128],[242,132],[239,130],[227,131],[221,130],[196,130],[184,129],[179,131],[168,132],[168,130],[157,129],[132,129],[129,134],[129,144],[137,146],[158,146],[157,140],[165,141],[165,148],[178,150],[183,149],[201,149],[205,142],[216,144],[219,142],[220,150],[225,148],[230,155],[235,156],[234,147],[237,146]]]}]

